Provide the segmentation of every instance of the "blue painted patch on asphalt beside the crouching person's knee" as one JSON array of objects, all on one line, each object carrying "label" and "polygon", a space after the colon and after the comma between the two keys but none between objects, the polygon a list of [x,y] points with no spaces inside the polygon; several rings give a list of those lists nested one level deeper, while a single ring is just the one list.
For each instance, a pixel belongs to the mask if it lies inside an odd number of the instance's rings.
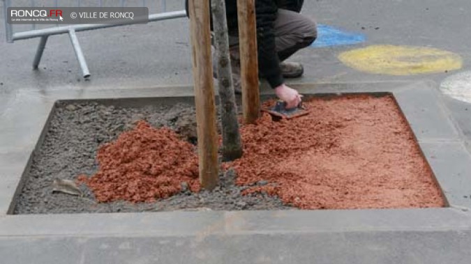
[{"label": "blue painted patch on asphalt beside the crouching person's knee", "polygon": [[365,42],[366,36],[361,33],[353,33],[336,29],[324,24],[317,25],[317,40],[311,47],[331,47],[339,45],[354,45]]}]

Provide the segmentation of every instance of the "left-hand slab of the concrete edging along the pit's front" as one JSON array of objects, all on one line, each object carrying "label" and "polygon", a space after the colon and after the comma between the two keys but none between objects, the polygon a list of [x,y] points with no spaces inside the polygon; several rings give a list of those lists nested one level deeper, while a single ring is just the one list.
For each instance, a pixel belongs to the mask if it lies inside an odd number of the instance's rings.
[{"label": "left-hand slab of the concrete edging along the pit's front", "polygon": [[0,218],[0,237],[205,236],[225,230],[223,211],[114,214],[8,215]]}]

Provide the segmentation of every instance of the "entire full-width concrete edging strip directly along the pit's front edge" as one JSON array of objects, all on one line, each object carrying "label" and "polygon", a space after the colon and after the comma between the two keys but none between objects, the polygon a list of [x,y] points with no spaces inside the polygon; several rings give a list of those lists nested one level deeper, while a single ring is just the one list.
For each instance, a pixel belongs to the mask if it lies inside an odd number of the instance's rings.
[{"label": "entire full-width concrete edging strip directly along the pit's front edge", "polygon": [[0,238],[447,231],[468,230],[470,220],[471,212],[464,208],[8,215],[0,218]]}]

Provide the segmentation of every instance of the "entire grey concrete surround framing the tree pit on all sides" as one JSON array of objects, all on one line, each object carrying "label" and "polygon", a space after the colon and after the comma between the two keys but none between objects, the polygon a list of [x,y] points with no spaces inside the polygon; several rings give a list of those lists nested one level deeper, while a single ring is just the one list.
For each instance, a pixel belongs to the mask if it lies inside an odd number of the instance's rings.
[{"label": "entire grey concrete surround framing the tree pit on all sides", "polygon": [[438,85],[293,86],[305,94],[392,93],[449,208],[8,215],[56,100],[188,99],[193,92],[19,90],[0,98],[0,263],[469,263],[470,142],[442,103]]}]

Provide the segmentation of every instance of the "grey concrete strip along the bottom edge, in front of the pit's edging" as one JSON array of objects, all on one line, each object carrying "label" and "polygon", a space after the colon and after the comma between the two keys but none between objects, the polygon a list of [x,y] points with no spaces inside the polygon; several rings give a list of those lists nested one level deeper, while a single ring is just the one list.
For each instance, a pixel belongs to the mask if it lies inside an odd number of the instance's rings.
[{"label": "grey concrete strip along the bottom edge, in front of the pit's edging", "polygon": [[5,263],[469,263],[471,231],[0,238]]}]

